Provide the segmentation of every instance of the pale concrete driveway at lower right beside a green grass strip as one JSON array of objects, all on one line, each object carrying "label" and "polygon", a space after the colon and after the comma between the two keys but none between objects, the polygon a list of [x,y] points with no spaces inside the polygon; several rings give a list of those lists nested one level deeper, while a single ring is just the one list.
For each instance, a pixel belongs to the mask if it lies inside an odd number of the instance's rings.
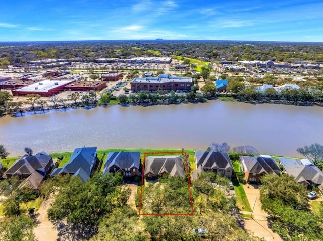
[{"label": "pale concrete driveway at lower right beside a green grass strip", "polygon": [[253,232],[258,237],[265,240],[282,240],[268,227],[267,213],[261,209],[260,193],[257,185],[243,185],[251,209],[253,209],[253,219],[244,220],[245,228]]}]

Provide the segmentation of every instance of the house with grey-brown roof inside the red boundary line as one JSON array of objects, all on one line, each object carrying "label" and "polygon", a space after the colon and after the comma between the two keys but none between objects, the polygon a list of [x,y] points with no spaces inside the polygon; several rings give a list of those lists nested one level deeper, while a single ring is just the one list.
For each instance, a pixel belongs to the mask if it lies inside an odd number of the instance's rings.
[{"label": "house with grey-brown roof inside the red boundary line", "polygon": [[148,156],[145,160],[146,179],[156,179],[168,173],[173,177],[185,177],[181,156]]}]

